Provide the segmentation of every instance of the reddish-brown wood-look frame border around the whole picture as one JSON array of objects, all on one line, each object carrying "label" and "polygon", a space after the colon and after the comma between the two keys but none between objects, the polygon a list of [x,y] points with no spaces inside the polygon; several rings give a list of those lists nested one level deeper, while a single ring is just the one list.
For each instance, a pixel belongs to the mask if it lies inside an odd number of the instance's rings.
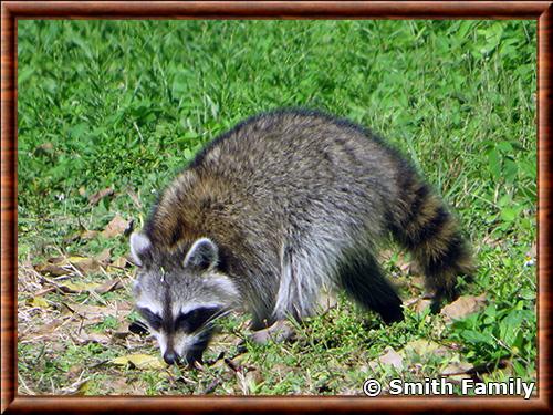
[{"label": "reddish-brown wood-look frame border around the whole picture", "polygon": [[[6,1],[1,4],[1,412],[551,411],[551,1]],[[535,19],[538,21],[539,397],[61,397],[17,395],[17,21],[19,19]]]}]

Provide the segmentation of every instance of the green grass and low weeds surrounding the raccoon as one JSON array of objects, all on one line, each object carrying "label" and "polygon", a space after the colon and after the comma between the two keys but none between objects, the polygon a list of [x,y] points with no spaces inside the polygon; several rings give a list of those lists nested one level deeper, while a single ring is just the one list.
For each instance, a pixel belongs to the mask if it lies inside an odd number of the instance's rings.
[{"label": "green grass and low weeds surrounding the raccoon", "polygon": [[[536,240],[534,21],[18,24],[18,247],[20,280],[31,281],[20,284],[20,309],[39,286],[50,287],[25,273],[25,263],[60,253],[94,257],[106,248],[113,258],[126,255],[123,236],[67,237],[102,230],[116,212],[140,227],[156,194],[202,144],[248,115],[282,106],[347,117],[411,157],[474,246],[479,270],[467,293],[488,298],[483,310],[452,325],[407,310],[406,321],[390,328],[341,298],[299,326],[295,342],[247,340],[248,352],[237,357],[241,374],[222,361],[204,371],[121,369],[102,362],[128,354],[124,341],[31,338],[19,345],[20,378],[29,391],[59,393],[83,373],[86,394],[201,393],[216,378],[218,394],[361,393],[368,377],[438,376],[446,357],[410,356],[413,364],[399,373],[368,366],[387,346],[400,350],[419,339],[455,346],[474,365],[509,362],[484,377],[536,378],[536,269],[525,264]],[[88,204],[106,187],[114,197]],[[398,281],[405,277],[394,261],[385,269]],[[52,307],[25,311],[25,318],[21,311],[20,329],[66,315],[63,302],[129,304],[128,270],[84,278],[114,277],[127,287],[44,294]],[[413,286],[401,293],[413,297]],[[246,336],[246,320],[229,319],[223,333]],[[121,322],[106,318],[87,330],[109,333]],[[144,339],[133,345],[133,353],[157,353]],[[213,345],[208,357],[219,351]],[[226,352],[238,353],[236,345]],[[21,384],[20,391],[29,393]]]}]

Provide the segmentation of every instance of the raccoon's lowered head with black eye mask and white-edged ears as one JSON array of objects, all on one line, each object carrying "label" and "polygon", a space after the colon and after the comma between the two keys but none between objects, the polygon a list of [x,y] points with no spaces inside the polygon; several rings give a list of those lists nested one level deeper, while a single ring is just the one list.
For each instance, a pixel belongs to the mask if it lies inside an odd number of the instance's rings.
[{"label": "raccoon's lowered head with black eye mask and white-edged ears", "polygon": [[168,364],[201,361],[213,321],[237,301],[236,284],[218,270],[219,250],[208,238],[188,250],[163,252],[144,234],[131,236],[138,266],[136,308],[159,343]]}]

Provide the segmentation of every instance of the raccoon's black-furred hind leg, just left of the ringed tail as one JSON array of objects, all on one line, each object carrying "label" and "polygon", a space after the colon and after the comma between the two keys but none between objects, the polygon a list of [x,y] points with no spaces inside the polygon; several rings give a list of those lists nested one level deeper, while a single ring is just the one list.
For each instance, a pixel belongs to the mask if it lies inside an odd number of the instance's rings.
[{"label": "raccoon's black-furred hind leg, just left of the ringed tail", "polygon": [[358,304],[380,314],[386,324],[404,319],[401,299],[372,253],[345,256],[337,268],[337,283]]}]

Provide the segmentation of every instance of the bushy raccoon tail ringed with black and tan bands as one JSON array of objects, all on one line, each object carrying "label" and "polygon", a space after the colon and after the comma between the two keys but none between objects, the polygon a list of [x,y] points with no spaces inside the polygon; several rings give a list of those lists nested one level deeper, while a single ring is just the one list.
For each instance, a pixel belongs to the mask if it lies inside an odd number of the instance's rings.
[{"label": "bushy raccoon tail ringed with black and tan bands", "polygon": [[459,276],[473,271],[470,249],[458,224],[444,201],[416,175],[404,176],[403,211],[390,220],[396,240],[407,248],[426,277],[427,289],[434,291],[432,311],[442,300],[455,300]]}]

